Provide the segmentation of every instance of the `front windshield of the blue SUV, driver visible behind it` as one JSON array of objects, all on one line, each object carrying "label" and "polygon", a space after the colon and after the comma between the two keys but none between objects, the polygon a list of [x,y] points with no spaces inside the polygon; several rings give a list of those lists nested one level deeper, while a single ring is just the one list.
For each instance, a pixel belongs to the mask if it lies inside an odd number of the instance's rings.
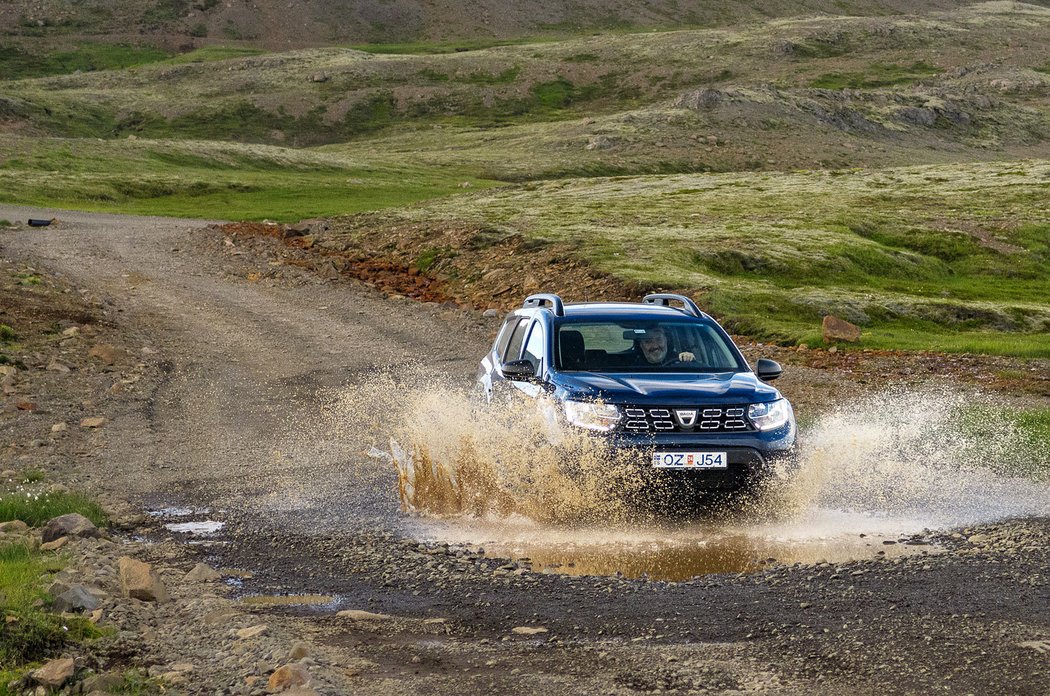
[{"label": "front windshield of the blue SUV, driver visible behind it", "polygon": [[558,367],[567,372],[743,372],[729,341],[705,321],[562,323]]}]

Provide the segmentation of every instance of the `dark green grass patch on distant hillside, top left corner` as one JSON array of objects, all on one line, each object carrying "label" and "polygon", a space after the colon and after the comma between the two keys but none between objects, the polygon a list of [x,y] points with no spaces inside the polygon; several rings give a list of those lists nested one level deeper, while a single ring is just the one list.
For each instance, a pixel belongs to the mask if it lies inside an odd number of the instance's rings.
[{"label": "dark green grass patch on distant hillside, top left corner", "polygon": [[44,54],[26,52],[17,46],[0,46],[0,76],[4,80],[69,75],[78,70],[118,70],[155,63],[167,54],[152,46],[117,43],[81,43],[70,50]]}]

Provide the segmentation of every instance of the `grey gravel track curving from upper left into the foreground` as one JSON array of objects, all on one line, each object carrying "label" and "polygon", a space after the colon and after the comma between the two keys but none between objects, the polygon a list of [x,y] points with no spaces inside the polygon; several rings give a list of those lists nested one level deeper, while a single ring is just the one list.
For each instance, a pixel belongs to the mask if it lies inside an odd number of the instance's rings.
[{"label": "grey gravel track curving from upper left into the foreground", "polygon": [[[418,545],[393,471],[326,437],[319,394],[420,358],[468,379],[490,321],[306,275],[252,281],[186,220],[60,217],[0,236],[0,254],[86,289],[148,350],[144,388],[56,468],[143,508],[217,511],[231,543],[208,557],[251,570],[246,592],[335,595],[268,620],[368,660],[355,693],[1050,693],[1047,519],[937,535],[939,555],[685,584]],[[332,616],[342,607],[399,618],[349,630]],[[430,617],[448,623],[415,620]],[[526,625],[547,632],[511,633]]]}]

